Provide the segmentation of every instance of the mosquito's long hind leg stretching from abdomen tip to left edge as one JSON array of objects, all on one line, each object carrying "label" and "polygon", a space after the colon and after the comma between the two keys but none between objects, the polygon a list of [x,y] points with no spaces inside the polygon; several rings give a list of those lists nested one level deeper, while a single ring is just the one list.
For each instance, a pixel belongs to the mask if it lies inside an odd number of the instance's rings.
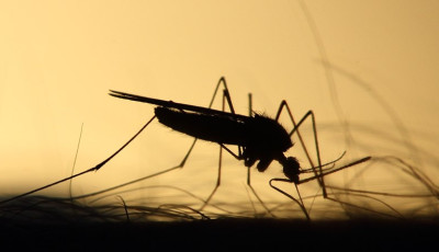
[{"label": "mosquito's long hind leg stretching from abdomen tip to left edge", "polygon": [[135,138],[136,138],[136,137],[137,137],[137,136],[138,136],[154,119],[155,119],[155,118],[156,118],[156,116],[153,116],[153,117],[148,121],[148,123],[146,123],[146,124],[145,124],[145,125],[128,140],[128,141],[127,141],[127,142],[125,142],[125,145],[123,145],[121,148],[119,148],[119,150],[116,150],[112,156],[110,156],[109,158],[106,158],[104,161],[100,162],[98,165],[95,165],[95,167],[93,167],[93,168],[90,168],[89,170],[86,170],[86,171],[80,172],[80,173],[78,173],[78,174],[75,174],[75,175],[65,177],[65,179],[63,179],[63,180],[59,180],[59,181],[57,181],[57,182],[50,183],[50,184],[48,184],[48,185],[42,186],[42,187],[40,187],[40,188],[32,190],[32,191],[30,191],[30,192],[27,192],[27,193],[20,194],[20,195],[18,195],[18,196],[8,198],[8,199],[5,199],[5,201],[1,201],[1,202],[0,202],[0,205],[5,204],[5,203],[8,203],[8,202],[15,201],[15,199],[21,198],[21,197],[24,197],[24,196],[27,196],[27,195],[33,194],[33,193],[36,193],[36,192],[38,192],[38,191],[48,188],[48,187],[50,187],[50,186],[54,186],[54,185],[57,185],[57,184],[59,184],[59,183],[66,182],[66,181],[68,181],[68,180],[75,179],[75,177],[77,177],[77,176],[83,175],[83,174],[86,174],[86,173],[89,173],[89,172],[92,172],[92,171],[98,171],[98,170],[101,169],[103,165],[105,165],[106,162],[109,162],[111,159],[113,159],[119,152],[121,152],[127,145],[130,145],[130,142],[132,142],[132,141],[133,141],[133,140],[134,140],[134,139],[135,139]]}]

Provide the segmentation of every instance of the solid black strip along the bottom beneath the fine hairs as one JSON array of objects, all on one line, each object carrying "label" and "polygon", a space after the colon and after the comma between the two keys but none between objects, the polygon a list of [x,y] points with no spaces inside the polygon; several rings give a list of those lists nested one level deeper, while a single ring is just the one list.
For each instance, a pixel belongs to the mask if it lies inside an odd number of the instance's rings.
[{"label": "solid black strip along the bottom beneath the fine hairs", "polygon": [[438,221],[216,219],[143,224],[2,224],[1,250],[436,251]]}]

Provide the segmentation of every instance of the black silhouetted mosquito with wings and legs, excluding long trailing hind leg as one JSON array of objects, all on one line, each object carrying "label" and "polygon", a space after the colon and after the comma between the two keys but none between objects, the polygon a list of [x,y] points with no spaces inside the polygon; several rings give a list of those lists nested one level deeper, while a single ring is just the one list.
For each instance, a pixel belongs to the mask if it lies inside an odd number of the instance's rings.
[{"label": "black silhouetted mosquito with wings and legs, excluding long trailing hind leg", "polygon": [[[222,101],[222,110],[219,111],[212,108],[212,104],[215,100],[215,96],[221,85],[223,85],[223,101]],[[262,201],[256,194],[250,184],[250,168],[255,163],[257,163],[256,164],[257,170],[259,172],[264,172],[273,161],[278,161],[283,168],[283,174],[285,175],[286,179],[284,177],[272,179],[270,181],[270,186],[277,190],[278,192],[284,194],[285,196],[290,197],[294,202],[296,202],[301,206],[307,219],[309,219],[309,216],[300,196],[297,188],[299,184],[308,182],[311,180],[317,180],[323,190],[323,196],[327,197],[325,182],[324,182],[325,175],[364,162],[370,159],[370,157],[367,157],[358,161],[354,161],[350,164],[334,170],[329,169],[330,171],[324,172],[323,170],[324,167],[335,163],[336,161],[341,159],[342,156],[333,162],[322,164],[318,140],[317,140],[316,123],[313,111],[308,111],[305,114],[305,116],[303,116],[302,119],[299,121],[299,123],[296,123],[286,101],[282,101],[275,117],[270,118],[268,116],[255,113],[252,111],[251,94],[249,94],[249,115],[246,116],[237,114],[235,113],[235,108],[232,103],[232,96],[224,77],[222,77],[217,82],[209,107],[146,98],[114,90],[110,90],[109,94],[119,99],[125,99],[125,100],[157,105],[155,107],[155,117],[157,117],[159,123],[176,131],[194,137],[194,140],[189,151],[187,152],[184,159],[182,160],[180,165],[178,165],[179,168],[182,168],[184,165],[185,160],[191,153],[198,139],[216,142],[219,145],[219,162],[218,162],[218,175],[216,180],[216,185],[212,191],[212,193],[210,194],[210,196],[207,197],[207,199],[204,202],[204,205],[201,207],[201,209],[203,209],[204,206],[210,202],[210,199],[213,197],[216,190],[221,185],[222,150],[227,151],[237,160],[244,161],[244,165],[248,168],[247,184],[252,190],[254,194],[256,195],[256,197],[260,203],[262,203]],[[228,106],[229,112],[225,111],[225,105]],[[279,118],[283,110],[286,110],[288,115],[294,126],[290,133],[279,123]],[[306,150],[302,136],[300,135],[299,131],[299,127],[308,117],[311,117],[313,124],[314,142],[317,153],[316,154],[317,165],[314,165],[309,157],[309,153]],[[307,156],[307,159],[312,164],[312,168],[306,171],[314,172],[314,176],[302,181],[300,180],[300,174],[305,172],[305,170],[301,168],[295,157],[285,157],[284,154],[285,151],[288,151],[291,147],[293,147],[291,137],[294,133],[297,134],[301,145]],[[227,146],[237,146],[237,152],[234,152]],[[300,201],[295,199],[290,194],[274,186],[272,184],[272,182],[274,181],[293,183],[296,186]],[[268,208],[266,207],[266,209]]]}]

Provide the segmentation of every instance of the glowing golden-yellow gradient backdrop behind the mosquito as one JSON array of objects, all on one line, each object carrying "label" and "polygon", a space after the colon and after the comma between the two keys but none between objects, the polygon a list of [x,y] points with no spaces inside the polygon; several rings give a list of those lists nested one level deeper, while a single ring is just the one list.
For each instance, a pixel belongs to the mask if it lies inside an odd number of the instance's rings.
[{"label": "glowing golden-yellow gradient backdrop behind the mosquito", "polygon": [[[82,124],[76,171],[101,162],[154,115],[153,105],[111,98],[109,89],[207,105],[222,76],[241,114],[248,111],[248,92],[254,110],[268,115],[282,100],[297,119],[313,110],[324,162],[344,150],[345,162],[395,154],[437,177],[439,3],[306,1],[306,7],[301,1],[2,1],[1,194],[70,175]],[[291,126],[286,118],[283,125]],[[311,136],[308,129],[303,133]],[[176,165],[190,142],[155,122],[102,170],[75,180],[74,194]],[[217,146],[199,142],[183,170],[145,186],[176,185],[206,197],[217,152]],[[300,150],[289,153],[309,167]],[[248,202],[244,165],[227,156],[224,167],[217,201],[233,205],[235,195]],[[384,170],[367,170],[361,185],[380,192],[419,187]],[[333,176],[346,185],[353,172]],[[283,199],[267,185],[281,175],[278,164],[255,173],[262,198]],[[318,192],[313,188],[308,195]],[[175,191],[167,197],[161,192],[139,190],[135,198],[181,199]],[[67,193],[65,183],[40,194]]]}]

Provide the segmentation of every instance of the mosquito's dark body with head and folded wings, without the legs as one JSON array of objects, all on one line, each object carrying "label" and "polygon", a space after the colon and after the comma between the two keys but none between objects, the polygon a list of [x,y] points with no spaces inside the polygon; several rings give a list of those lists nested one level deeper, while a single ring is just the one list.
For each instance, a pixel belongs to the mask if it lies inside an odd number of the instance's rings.
[{"label": "mosquito's dark body with head and folded wings, without the legs", "polygon": [[[229,99],[228,91],[225,92]],[[293,146],[290,135],[272,118],[258,114],[244,116],[119,91],[111,91],[110,95],[159,105],[155,114],[161,124],[194,138],[219,144],[235,158],[244,160],[246,167],[259,161],[257,169],[260,172],[277,160],[282,164],[285,176],[294,183],[299,182],[297,160],[283,153]],[[225,145],[238,146],[239,153],[234,153]]]}]

